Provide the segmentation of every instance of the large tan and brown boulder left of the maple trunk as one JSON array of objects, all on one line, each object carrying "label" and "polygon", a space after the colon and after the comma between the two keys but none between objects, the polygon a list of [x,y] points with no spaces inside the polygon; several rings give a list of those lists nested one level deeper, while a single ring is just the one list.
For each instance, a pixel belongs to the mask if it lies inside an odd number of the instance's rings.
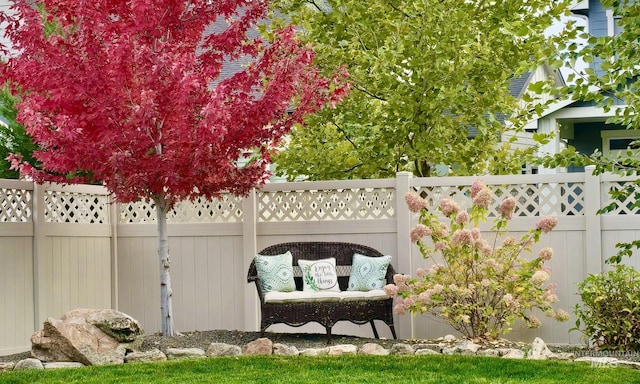
[{"label": "large tan and brown boulder left of the maple trunk", "polygon": [[74,309],[48,318],[31,336],[31,354],[43,361],[85,365],[122,364],[127,349],[142,335],[140,323],[113,309]]}]

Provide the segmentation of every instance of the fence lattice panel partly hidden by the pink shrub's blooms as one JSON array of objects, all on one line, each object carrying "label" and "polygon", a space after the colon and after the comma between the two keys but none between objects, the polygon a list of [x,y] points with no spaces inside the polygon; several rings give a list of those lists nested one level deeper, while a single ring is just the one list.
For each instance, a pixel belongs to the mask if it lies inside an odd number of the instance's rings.
[{"label": "fence lattice panel partly hidden by the pink shrub's blooms", "polygon": [[[489,216],[499,215],[500,203],[508,196],[516,199],[514,216],[584,215],[584,183],[537,183],[488,185],[493,191]],[[462,209],[470,209],[471,186],[436,186],[414,188],[431,206],[450,197]]]}]

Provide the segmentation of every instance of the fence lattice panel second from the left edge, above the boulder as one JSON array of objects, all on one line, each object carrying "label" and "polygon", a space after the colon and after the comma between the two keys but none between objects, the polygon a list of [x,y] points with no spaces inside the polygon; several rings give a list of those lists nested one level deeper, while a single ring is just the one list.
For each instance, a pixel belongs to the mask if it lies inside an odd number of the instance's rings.
[{"label": "fence lattice panel second from the left edge, above the boulder", "polygon": [[50,223],[108,224],[109,196],[45,191],[44,216]]}]

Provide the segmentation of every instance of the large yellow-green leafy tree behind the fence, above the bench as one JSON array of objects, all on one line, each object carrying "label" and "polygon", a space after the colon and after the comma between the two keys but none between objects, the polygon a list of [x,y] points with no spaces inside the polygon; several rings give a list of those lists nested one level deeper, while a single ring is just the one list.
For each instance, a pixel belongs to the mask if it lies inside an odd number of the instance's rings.
[{"label": "large yellow-green leafy tree behind the fence, above the bench", "polygon": [[439,164],[458,175],[519,171],[534,149],[513,150],[501,136],[542,106],[527,99],[521,108],[509,85],[571,37],[571,28],[544,35],[569,3],[276,1],[316,47],[321,70],[346,66],[352,88],[292,131],[276,172],[317,180],[429,176]]}]

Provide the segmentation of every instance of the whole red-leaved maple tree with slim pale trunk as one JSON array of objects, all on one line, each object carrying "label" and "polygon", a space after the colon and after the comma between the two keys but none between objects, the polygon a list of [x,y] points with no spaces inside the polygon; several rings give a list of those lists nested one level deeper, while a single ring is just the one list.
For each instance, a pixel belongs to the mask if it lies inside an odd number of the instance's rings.
[{"label": "whole red-leaved maple tree with slim pale trunk", "polygon": [[[293,28],[249,37],[267,0],[17,0],[3,14],[13,54],[1,79],[22,95],[18,119],[37,182],[103,183],[157,211],[162,333],[176,331],[166,217],[181,200],[246,194],[294,123],[347,91],[321,77]],[[217,22],[218,33],[205,29]],[[255,34],[254,34],[255,35]],[[229,78],[225,64],[249,63]],[[250,151],[252,161],[239,161]]]}]

